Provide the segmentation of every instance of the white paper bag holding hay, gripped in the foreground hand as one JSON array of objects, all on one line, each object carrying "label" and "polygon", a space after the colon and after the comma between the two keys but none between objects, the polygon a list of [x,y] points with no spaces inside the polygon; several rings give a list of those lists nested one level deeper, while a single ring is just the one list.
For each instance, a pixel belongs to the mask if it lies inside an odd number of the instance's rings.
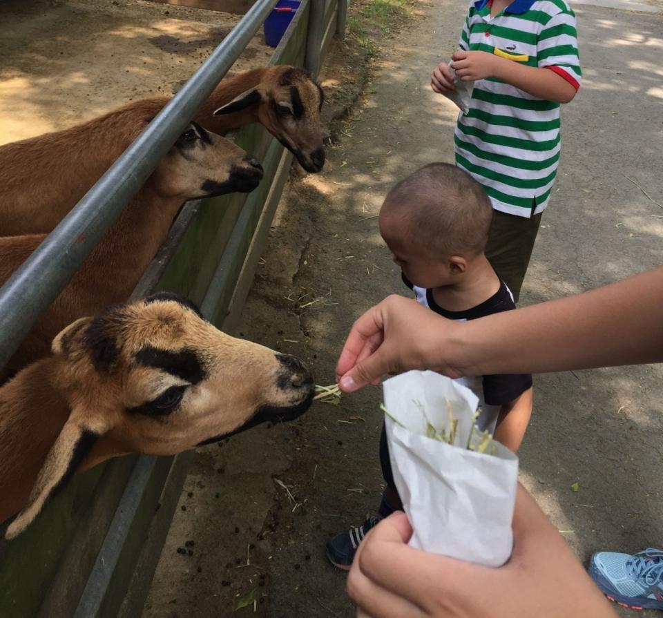
[{"label": "white paper bag holding hay, gripped in the foreground hand", "polygon": [[[518,458],[492,442],[492,454],[468,450],[477,396],[433,371],[408,371],[384,383],[387,441],[396,489],[414,530],[410,545],[461,560],[501,566],[513,545],[511,521]],[[452,431],[453,446],[427,437]]]}]

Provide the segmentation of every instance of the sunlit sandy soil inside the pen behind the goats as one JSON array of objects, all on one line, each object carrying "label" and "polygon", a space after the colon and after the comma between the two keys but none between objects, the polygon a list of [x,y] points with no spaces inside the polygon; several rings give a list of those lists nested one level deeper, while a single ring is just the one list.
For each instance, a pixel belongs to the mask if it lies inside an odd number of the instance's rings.
[{"label": "sunlit sandy soil inside the pen behind the goats", "polygon": [[[241,16],[143,0],[0,3],[0,144],[173,95]],[[231,72],[263,66],[262,30]]]}]

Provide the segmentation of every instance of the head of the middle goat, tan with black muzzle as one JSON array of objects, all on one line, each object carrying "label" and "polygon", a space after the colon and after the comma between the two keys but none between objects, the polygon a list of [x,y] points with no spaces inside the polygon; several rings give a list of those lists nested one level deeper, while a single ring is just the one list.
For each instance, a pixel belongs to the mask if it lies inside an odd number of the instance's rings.
[{"label": "head of the middle goat, tan with black muzzle", "polygon": [[262,166],[229,139],[192,122],[152,178],[164,197],[191,200],[253,191],[262,179]]}]

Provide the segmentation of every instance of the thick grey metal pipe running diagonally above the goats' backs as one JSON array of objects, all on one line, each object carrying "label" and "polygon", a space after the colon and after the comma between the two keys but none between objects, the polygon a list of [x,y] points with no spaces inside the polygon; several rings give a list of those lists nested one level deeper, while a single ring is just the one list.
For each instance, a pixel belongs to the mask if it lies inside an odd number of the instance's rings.
[{"label": "thick grey metal pipe running diagonally above the goats' backs", "polygon": [[173,146],[276,2],[258,0],[251,7],[182,90],[0,288],[0,367]]}]

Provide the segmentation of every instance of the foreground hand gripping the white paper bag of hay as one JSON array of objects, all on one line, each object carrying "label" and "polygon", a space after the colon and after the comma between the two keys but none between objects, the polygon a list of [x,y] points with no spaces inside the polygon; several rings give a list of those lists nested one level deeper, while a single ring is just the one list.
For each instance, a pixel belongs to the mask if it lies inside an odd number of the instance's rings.
[{"label": "foreground hand gripping the white paper bag of hay", "polygon": [[407,546],[403,513],[381,521],[359,545],[347,579],[358,618],[615,617],[582,565],[519,486],[513,554],[501,568]]}]

